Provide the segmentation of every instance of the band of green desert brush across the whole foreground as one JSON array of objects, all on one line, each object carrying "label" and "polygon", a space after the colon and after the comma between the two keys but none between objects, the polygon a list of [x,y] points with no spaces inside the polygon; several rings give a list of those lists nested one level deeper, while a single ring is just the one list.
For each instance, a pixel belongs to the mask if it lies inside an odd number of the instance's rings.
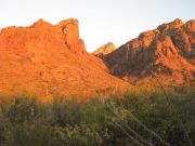
[{"label": "band of green desert brush across the whole foreground", "polygon": [[[195,144],[195,93],[82,104],[23,95],[0,103],[0,146],[187,146]],[[172,109],[173,107],[173,109]],[[182,127],[182,124],[184,127]],[[191,141],[191,144],[187,140]]]}]

